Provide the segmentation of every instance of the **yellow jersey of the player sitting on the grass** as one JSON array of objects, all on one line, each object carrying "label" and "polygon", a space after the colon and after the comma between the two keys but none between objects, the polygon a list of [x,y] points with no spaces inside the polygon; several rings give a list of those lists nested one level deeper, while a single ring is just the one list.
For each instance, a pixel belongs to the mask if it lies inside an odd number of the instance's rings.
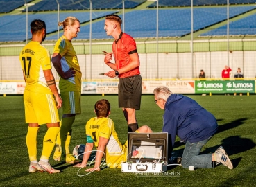
[{"label": "yellow jersey of the player sitting on the grass", "polygon": [[91,118],[85,126],[87,136],[91,136],[94,146],[98,148],[99,137],[108,139],[105,148],[106,163],[110,168],[121,168],[126,162],[127,148],[118,139],[114,122],[110,118]]}]

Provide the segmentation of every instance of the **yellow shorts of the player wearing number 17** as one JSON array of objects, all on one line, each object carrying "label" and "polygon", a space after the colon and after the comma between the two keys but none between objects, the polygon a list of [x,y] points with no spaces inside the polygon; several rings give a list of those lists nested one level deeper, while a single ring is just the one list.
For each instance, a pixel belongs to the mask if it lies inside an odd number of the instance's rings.
[{"label": "yellow shorts of the player wearing number 17", "polygon": [[26,123],[57,123],[60,121],[53,94],[24,91]]}]

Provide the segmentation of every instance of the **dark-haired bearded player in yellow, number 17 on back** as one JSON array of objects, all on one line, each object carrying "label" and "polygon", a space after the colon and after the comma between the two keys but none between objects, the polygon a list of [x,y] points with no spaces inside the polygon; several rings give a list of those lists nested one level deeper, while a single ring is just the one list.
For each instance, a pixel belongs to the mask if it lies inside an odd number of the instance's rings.
[{"label": "dark-haired bearded player in yellow, number 17 on back", "polygon": [[[49,51],[42,46],[46,37],[46,24],[40,19],[31,22],[31,42],[26,44],[19,55],[26,87],[24,91],[25,118],[28,123],[26,146],[31,161],[29,172],[37,170],[57,173],[49,163],[49,157],[60,131],[58,109],[62,100],[51,72]],[[54,96],[54,97],[53,97]],[[40,125],[47,125],[44,135],[42,156],[37,163],[37,132]]]}]

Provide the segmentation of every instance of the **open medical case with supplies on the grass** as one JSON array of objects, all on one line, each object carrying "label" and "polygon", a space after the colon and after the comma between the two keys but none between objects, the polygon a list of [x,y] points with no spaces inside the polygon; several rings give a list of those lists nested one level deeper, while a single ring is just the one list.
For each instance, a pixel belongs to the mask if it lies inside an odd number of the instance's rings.
[{"label": "open medical case with supplies on the grass", "polygon": [[164,172],[167,170],[168,134],[128,133],[127,161],[122,172]]}]

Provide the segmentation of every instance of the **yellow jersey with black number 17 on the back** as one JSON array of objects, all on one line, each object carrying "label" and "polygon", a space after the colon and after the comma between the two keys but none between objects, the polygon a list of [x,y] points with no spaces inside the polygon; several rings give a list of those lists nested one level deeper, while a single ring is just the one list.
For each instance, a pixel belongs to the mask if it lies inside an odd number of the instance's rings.
[{"label": "yellow jersey with black number 17 on the back", "polygon": [[44,78],[44,70],[51,69],[49,51],[40,42],[31,41],[19,54],[26,89],[34,92],[52,94]]}]

